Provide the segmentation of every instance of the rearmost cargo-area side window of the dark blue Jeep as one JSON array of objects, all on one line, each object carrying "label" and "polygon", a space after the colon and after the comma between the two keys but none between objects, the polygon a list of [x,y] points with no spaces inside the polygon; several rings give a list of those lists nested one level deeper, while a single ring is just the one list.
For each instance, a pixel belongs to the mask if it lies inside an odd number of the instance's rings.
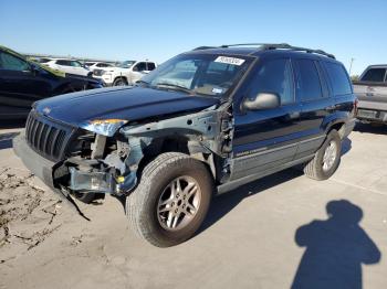
[{"label": "rearmost cargo-area side window of the dark blue Jeep", "polygon": [[349,78],[343,67],[337,63],[324,63],[334,95],[352,94]]}]

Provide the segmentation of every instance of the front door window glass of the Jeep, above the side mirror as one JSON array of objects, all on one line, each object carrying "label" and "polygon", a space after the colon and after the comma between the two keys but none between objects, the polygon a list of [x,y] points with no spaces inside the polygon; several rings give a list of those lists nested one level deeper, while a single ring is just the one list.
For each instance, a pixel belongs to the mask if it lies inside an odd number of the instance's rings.
[{"label": "front door window glass of the Jeep, above the side mirror", "polygon": [[281,105],[294,103],[293,75],[289,60],[268,61],[259,67],[249,97],[255,97],[260,93],[278,94]]}]

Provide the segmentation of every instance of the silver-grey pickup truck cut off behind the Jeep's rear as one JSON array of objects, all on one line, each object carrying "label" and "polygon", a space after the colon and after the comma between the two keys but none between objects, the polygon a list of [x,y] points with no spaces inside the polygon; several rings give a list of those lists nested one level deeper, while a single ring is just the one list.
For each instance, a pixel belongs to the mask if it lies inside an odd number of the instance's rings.
[{"label": "silver-grey pickup truck cut off behind the Jeep's rear", "polygon": [[358,119],[387,124],[387,64],[368,66],[354,82],[354,92],[358,97]]}]

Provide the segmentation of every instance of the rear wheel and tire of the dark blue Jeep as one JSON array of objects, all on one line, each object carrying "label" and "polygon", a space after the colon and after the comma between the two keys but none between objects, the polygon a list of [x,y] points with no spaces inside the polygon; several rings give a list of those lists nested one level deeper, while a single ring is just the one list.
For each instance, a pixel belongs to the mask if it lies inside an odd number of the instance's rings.
[{"label": "rear wheel and tire of the dark blue Jeep", "polygon": [[[333,147],[331,146],[334,146],[335,149],[333,150]],[[332,153],[330,153],[330,156],[333,157],[331,160],[327,158],[324,161],[324,156],[328,150],[332,150]],[[304,173],[306,176],[317,181],[323,181],[331,178],[338,168],[341,161],[341,151],[342,139],[337,130],[333,129],[326,136],[323,146],[317,150],[314,158],[305,165]]]}]

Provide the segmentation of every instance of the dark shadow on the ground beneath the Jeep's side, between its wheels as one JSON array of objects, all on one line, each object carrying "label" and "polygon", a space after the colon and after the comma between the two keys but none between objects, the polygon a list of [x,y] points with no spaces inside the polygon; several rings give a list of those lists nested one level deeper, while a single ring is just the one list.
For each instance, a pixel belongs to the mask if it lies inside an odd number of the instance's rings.
[{"label": "dark shadow on the ground beneath the Jeep's side, between its wheels", "polygon": [[233,191],[212,199],[211,207],[208,211],[207,217],[201,225],[198,234],[211,227],[220,221],[224,215],[231,212],[243,199],[261,193],[272,186],[287,182],[302,175],[303,172],[297,169],[287,169],[265,178],[259,179],[251,183],[240,186]]}]

